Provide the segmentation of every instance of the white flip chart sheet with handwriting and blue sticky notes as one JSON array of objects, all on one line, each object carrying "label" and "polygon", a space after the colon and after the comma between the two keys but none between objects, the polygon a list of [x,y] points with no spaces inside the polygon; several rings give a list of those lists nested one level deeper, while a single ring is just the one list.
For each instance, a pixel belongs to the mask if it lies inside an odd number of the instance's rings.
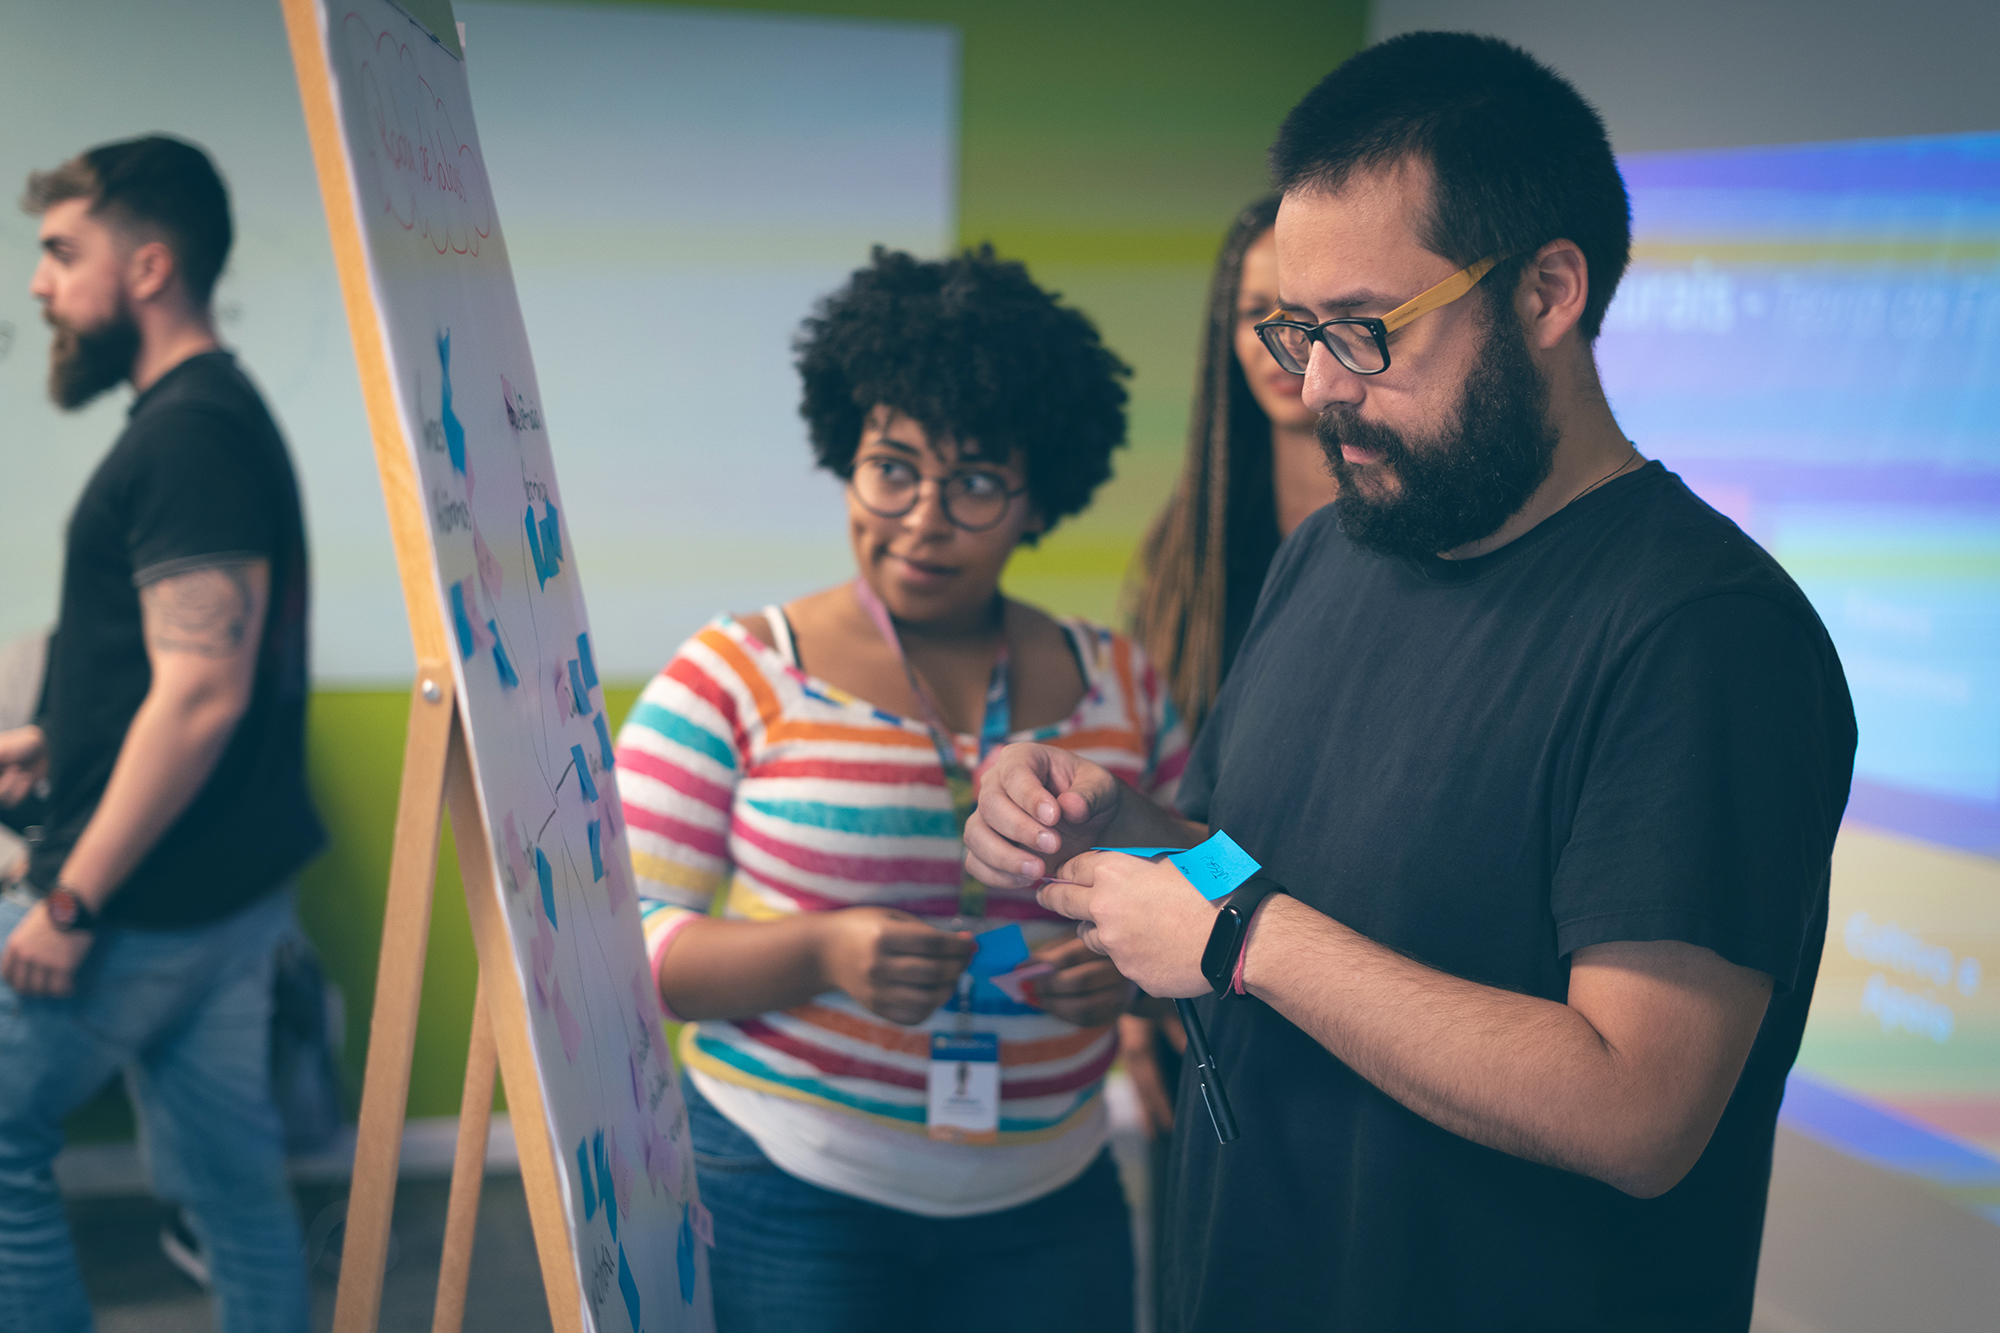
[{"label": "white flip chart sheet with handwriting and blue sticky notes", "polygon": [[[588,1327],[710,1329],[712,1223],[646,963],[612,737],[458,58],[322,10],[356,210],[456,642],[458,697]],[[516,1133],[532,1133],[516,1125]]]}]

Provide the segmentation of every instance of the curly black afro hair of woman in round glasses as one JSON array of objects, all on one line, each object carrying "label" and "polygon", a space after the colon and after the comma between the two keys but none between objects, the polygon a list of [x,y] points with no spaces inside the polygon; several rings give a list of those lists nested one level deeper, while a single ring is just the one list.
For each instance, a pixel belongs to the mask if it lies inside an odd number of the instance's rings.
[{"label": "curly black afro hair of woman in round glasses", "polygon": [[792,344],[818,464],[852,476],[882,404],[986,460],[1022,450],[1048,526],[1082,510],[1126,442],[1120,380],[1132,374],[1096,324],[992,246],[936,262],[876,246],[870,258]]}]

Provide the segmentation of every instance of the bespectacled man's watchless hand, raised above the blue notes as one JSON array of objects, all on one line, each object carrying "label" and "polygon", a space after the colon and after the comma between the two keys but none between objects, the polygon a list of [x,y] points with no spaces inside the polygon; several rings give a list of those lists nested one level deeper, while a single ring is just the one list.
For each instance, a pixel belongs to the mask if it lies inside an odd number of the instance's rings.
[{"label": "bespectacled man's watchless hand, raised above the blue notes", "polygon": [[966,821],[966,869],[992,889],[1028,889],[1048,867],[1098,843],[1118,819],[1124,785],[1052,745],[1010,745],[980,779]]}]

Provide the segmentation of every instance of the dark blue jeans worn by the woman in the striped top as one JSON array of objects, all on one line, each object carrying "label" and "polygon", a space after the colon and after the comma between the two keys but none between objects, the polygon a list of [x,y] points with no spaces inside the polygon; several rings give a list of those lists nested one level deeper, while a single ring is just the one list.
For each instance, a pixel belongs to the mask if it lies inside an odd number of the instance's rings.
[{"label": "dark blue jeans worn by the woman in the striped top", "polygon": [[786,1175],[680,1081],[716,1333],[1132,1333],[1132,1223],[1110,1153],[1062,1189],[920,1217]]}]

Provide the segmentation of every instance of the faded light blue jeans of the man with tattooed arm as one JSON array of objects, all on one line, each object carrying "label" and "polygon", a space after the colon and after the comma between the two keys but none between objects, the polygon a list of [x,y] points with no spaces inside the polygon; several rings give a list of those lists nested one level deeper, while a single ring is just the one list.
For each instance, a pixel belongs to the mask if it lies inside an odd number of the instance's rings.
[{"label": "faded light blue jeans of the man with tattooed arm", "polygon": [[[0,939],[26,907],[0,899]],[[154,1191],[208,1251],[222,1333],[304,1333],[306,1267],[270,1097],[282,889],[190,931],[98,933],[66,999],[0,983],[0,1333],[90,1329],[50,1165],[62,1119],[118,1069]]]}]

